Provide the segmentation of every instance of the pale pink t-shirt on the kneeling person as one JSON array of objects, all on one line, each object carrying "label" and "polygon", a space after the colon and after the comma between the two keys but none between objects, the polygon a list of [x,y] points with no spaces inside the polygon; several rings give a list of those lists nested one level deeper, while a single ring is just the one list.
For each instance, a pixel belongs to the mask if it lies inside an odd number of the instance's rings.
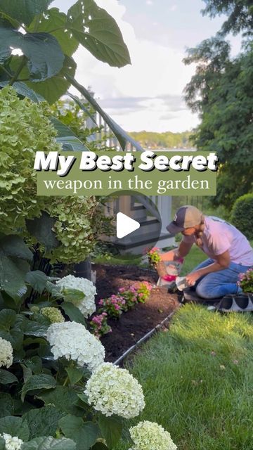
[{"label": "pale pink t-shirt on the kneeling person", "polygon": [[[195,236],[183,236],[183,242],[195,243],[195,240]],[[219,217],[205,216],[200,248],[212,259],[228,250],[231,262],[253,266],[253,249],[247,238],[235,226]]]}]

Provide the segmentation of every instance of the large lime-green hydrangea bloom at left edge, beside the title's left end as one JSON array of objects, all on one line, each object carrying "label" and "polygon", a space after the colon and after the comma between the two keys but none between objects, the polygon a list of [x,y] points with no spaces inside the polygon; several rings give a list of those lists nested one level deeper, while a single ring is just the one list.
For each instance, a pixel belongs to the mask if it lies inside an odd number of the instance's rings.
[{"label": "large lime-green hydrangea bloom at left edge, beside the title's left end", "polygon": [[11,86],[0,91],[0,228],[6,234],[20,233],[25,219],[44,209],[45,199],[37,197],[35,153],[60,150],[45,110],[45,103],[21,101]]}]

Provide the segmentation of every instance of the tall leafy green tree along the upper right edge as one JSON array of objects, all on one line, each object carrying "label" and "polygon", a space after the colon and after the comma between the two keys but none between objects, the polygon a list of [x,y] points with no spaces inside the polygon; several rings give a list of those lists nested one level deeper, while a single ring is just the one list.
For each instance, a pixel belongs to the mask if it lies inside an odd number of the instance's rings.
[{"label": "tall leafy green tree along the upper right edge", "polygon": [[[188,49],[184,63],[197,63],[195,75],[185,89],[186,103],[199,113],[201,123],[193,142],[202,150],[216,150],[220,158],[214,205],[230,207],[238,196],[252,190],[253,163],[253,32],[252,2],[206,0],[203,13],[214,17],[226,13],[216,37]],[[230,56],[228,32],[244,37],[242,51]]]}]

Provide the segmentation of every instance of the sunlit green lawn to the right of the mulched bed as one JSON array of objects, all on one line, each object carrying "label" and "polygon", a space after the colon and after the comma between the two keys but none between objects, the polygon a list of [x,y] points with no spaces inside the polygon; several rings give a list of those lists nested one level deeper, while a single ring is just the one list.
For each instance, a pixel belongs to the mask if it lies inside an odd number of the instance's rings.
[{"label": "sunlit green lawn to the right of the mulched bed", "polygon": [[[199,305],[181,307],[169,330],[143,346],[127,368],[145,394],[129,421],[160,423],[179,450],[252,450],[253,322]],[[115,450],[129,449],[122,442]]]}]

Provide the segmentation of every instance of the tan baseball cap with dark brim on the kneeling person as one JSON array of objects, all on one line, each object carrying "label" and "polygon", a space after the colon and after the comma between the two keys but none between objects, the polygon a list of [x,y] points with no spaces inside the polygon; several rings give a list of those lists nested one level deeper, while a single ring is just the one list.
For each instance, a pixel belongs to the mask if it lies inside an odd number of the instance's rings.
[{"label": "tan baseball cap with dark brim on the kneeling person", "polygon": [[195,206],[185,205],[177,210],[174,220],[166,227],[171,234],[181,233],[186,228],[199,225],[202,212]]}]

